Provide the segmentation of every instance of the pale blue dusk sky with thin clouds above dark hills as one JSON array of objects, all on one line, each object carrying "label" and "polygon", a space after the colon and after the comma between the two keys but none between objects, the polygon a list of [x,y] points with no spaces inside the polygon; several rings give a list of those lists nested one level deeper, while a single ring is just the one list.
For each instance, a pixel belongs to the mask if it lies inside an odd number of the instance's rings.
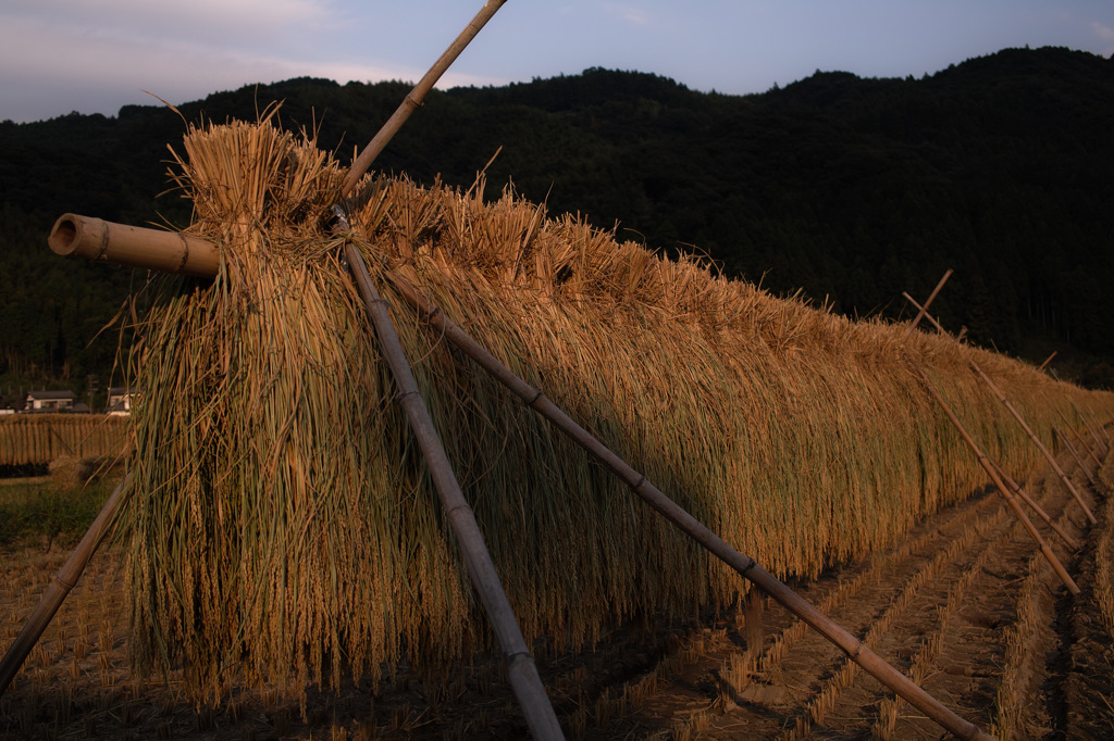
[{"label": "pale blue dusk sky with thin clouds above dark hills", "polygon": [[[481,0],[3,0],[0,120],[182,103],[292,77],[417,81]],[[921,77],[1007,47],[1114,53],[1111,0],[508,0],[440,88],[589,67],[745,95]],[[158,96],[155,98],[154,96]]]}]

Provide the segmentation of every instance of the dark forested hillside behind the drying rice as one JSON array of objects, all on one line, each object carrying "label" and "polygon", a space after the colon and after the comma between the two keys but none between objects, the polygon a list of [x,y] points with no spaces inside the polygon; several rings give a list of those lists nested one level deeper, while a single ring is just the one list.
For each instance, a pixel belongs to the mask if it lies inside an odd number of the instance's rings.
[{"label": "dark forested hillside behind the drying rice", "polygon": [[[28,386],[109,382],[116,332],[92,339],[144,276],[52,255],[63,211],[185,225],[167,145],[185,122],[254,119],[282,100],[342,159],[410,86],[295,79],[115,118],[0,124],[0,406]],[[688,90],[638,72],[434,91],[378,167],[467,186],[488,169],[551,213],[620,239],[707,255],[774,293],[849,315],[897,316],[902,290],[974,342],[1083,383],[1114,373],[1114,61],[1010,49],[921,79],[812,77],[755,96]],[[159,197],[157,197],[159,196]],[[116,379],[119,378],[117,374]]]}]

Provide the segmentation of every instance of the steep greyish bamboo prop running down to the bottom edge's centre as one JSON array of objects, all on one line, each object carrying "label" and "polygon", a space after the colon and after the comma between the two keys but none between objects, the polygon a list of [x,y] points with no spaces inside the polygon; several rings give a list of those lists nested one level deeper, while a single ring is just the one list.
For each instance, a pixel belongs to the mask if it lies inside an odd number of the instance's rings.
[{"label": "steep greyish bamboo prop running down to the bottom edge's centre", "polygon": [[418,445],[429,466],[441,504],[460,544],[472,585],[479,593],[491,626],[499,639],[499,645],[506,653],[507,675],[526,715],[530,733],[535,739],[563,739],[557,715],[546,695],[545,686],[534,664],[534,656],[530,655],[526,640],[518,628],[507,594],[499,583],[495,563],[483,543],[483,535],[476,523],[476,516],[460,491],[449,457],[418,391],[418,384],[394,330],[387,302],[380,298],[379,292],[375,290],[360,251],[352,245],[346,245],[345,256],[368,316],[375,327],[383,356],[399,388],[397,397],[399,405],[405,412],[414,437],[418,438]]}]

